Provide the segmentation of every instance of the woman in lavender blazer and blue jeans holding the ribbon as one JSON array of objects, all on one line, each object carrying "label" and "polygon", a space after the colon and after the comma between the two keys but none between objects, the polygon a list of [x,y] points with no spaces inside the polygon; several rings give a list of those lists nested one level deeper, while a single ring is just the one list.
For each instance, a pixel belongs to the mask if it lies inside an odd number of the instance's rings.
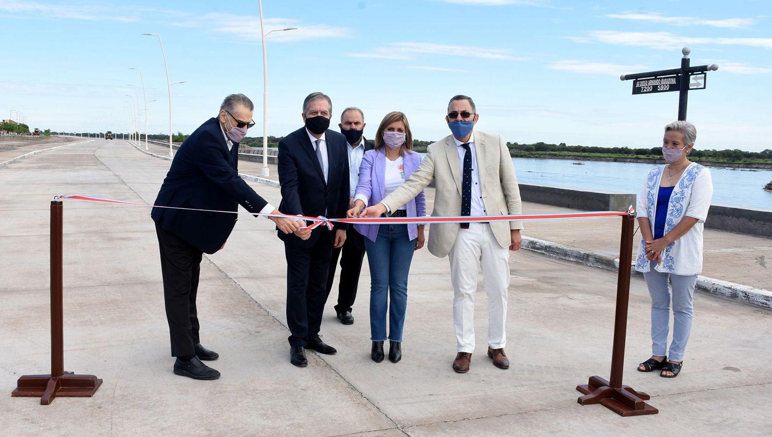
[{"label": "woman in lavender blazer and blue jeans holding the ribbon", "polygon": [[[378,202],[394,191],[421,164],[421,155],[412,151],[413,136],[404,113],[391,112],[384,117],[375,134],[375,147],[364,153],[359,168],[359,185],[354,208],[349,217]],[[424,192],[415,196],[391,217],[426,215]],[[402,357],[402,330],[408,306],[408,273],[413,252],[424,246],[424,225],[354,225],[364,235],[367,263],[370,264],[371,357],[384,359],[384,341],[389,340],[389,360]],[[389,298],[391,305],[388,304]],[[386,336],[388,310],[389,334]]]}]

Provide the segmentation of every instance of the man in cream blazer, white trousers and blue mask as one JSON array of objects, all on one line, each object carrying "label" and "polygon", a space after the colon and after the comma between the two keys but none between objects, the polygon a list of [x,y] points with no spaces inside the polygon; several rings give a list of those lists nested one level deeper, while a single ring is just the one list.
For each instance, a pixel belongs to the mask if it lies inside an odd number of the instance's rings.
[{"label": "man in cream blazer, white trousers and blue mask", "polygon": [[[430,144],[420,167],[401,187],[362,212],[378,217],[415,198],[432,180],[435,203],[432,215],[520,214],[520,188],[506,142],[496,134],[474,131],[479,120],[475,103],[455,96],[445,117],[452,135]],[[453,289],[453,323],[458,340],[453,370],[469,371],[475,348],[474,294],[478,264],[488,294],[488,356],[497,368],[509,368],[506,346],[507,288],[510,286],[509,250],[523,242],[521,222],[433,224],[428,248],[432,255],[449,256]]]}]

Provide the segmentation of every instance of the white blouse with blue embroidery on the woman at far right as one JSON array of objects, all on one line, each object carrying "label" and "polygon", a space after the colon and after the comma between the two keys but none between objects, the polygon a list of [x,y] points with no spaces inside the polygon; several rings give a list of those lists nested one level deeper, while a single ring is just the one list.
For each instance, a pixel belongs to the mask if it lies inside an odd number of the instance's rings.
[{"label": "white blouse with blue embroidery on the woman at far right", "polygon": [[[638,195],[638,214],[645,214],[648,217],[652,225],[652,235],[654,235],[659,182],[664,169],[665,166],[662,165],[649,171],[643,191]],[[692,162],[683,172],[670,195],[665,219],[665,235],[672,231],[685,216],[696,218],[697,222],[689,232],[665,248],[662,252],[662,263],[655,266],[656,271],[684,276],[697,275],[703,271],[703,228],[711,198],[713,198],[713,181],[710,178],[710,171]],[[645,273],[649,271],[651,262],[646,259],[644,247],[645,243],[641,239],[635,269]]]}]

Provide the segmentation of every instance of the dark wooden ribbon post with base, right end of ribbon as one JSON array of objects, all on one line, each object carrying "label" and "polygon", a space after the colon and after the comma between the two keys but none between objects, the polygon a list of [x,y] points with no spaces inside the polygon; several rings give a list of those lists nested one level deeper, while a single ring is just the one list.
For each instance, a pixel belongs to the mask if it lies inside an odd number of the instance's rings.
[{"label": "dark wooden ribbon post with base, right end of ribbon", "polygon": [[611,351],[611,382],[591,376],[587,384],[577,385],[584,393],[577,399],[581,405],[601,404],[622,416],[653,415],[659,410],[648,405],[649,395],[622,385],[625,361],[625,335],[630,297],[630,266],[635,215],[622,216],[621,245],[619,248],[619,276],[617,280],[617,308],[614,318],[614,347]]}]

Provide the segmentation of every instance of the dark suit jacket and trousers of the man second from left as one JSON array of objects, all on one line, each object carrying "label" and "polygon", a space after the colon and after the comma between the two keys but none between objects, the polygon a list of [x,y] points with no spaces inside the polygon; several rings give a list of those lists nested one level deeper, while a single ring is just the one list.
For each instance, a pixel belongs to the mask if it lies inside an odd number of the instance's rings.
[{"label": "dark suit jacket and trousers of the man second from left", "polygon": [[[346,216],[349,199],[346,138],[327,130],[325,142],[327,181],[305,127],[279,141],[281,212],[310,217]],[[305,345],[306,340],[319,334],[334,231],[347,228],[344,223],[336,223],[330,232],[326,226],[319,226],[307,240],[278,232],[287,261],[286,310],[291,346]]]}]

